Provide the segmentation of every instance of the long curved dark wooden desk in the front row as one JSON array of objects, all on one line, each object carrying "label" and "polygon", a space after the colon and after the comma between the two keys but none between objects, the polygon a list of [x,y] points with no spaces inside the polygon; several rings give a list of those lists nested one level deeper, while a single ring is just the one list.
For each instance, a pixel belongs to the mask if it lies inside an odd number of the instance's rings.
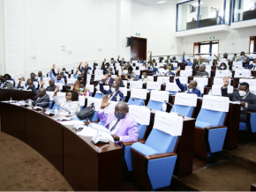
[{"label": "long curved dark wooden desk in the front row", "polygon": [[[95,145],[41,112],[1,103],[2,131],[29,144],[64,174],[74,190],[121,190],[122,148]],[[15,115],[13,115],[15,114]]]}]

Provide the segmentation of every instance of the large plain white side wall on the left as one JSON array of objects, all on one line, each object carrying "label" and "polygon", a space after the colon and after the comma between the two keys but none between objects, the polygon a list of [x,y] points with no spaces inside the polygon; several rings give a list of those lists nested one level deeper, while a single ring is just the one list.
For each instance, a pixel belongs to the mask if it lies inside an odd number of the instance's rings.
[{"label": "large plain white side wall on the left", "polygon": [[117,0],[4,0],[4,11],[12,75],[117,55]]}]

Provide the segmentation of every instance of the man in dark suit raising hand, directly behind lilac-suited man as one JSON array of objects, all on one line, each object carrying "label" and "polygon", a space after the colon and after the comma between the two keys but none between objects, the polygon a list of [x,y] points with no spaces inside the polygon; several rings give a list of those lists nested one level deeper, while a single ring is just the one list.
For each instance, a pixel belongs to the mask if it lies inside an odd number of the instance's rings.
[{"label": "man in dark suit raising hand, directly behind lilac-suited man", "polygon": [[102,81],[100,82],[100,91],[103,94],[108,94],[109,95],[109,100],[123,101],[124,94],[123,94],[123,92],[119,91],[119,85],[113,84],[109,87],[109,90],[107,91],[103,87],[103,81],[104,81],[104,78],[102,78]]}]

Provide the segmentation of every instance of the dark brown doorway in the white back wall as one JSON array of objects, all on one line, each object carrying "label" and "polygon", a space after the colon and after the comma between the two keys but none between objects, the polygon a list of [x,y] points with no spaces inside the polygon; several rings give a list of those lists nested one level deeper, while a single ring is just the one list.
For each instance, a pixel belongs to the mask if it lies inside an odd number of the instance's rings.
[{"label": "dark brown doorway in the white back wall", "polygon": [[138,57],[147,60],[147,39],[132,37],[131,60],[137,60]]}]

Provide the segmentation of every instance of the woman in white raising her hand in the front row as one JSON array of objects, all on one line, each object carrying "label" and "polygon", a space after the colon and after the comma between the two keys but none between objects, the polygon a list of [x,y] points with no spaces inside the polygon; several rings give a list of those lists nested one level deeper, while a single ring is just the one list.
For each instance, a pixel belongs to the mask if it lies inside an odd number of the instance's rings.
[{"label": "woman in white raising her hand in the front row", "polygon": [[61,109],[58,112],[59,116],[74,116],[79,113],[79,93],[73,90],[69,90],[66,92],[66,100],[61,101],[56,96],[59,87],[56,86],[54,91],[53,100],[55,101],[56,105],[60,106]]}]

